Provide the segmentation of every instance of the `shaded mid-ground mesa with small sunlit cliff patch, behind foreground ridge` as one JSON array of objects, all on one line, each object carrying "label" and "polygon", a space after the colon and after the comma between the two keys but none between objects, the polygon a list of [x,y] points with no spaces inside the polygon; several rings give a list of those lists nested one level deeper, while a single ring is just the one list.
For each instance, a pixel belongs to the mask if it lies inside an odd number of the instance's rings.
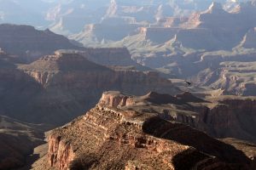
[{"label": "shaded mid-ground mesa with small sunlit cliff patch, behind foreground ridge", "polygon": [[0,61],[0,77],[4,80],[0,82],[0,111],[25,122],[69,122],[95,105],[103,91],[179,91],[155,71],[108,68],[79,54],[47,55],[18,68],[5,59]]}]

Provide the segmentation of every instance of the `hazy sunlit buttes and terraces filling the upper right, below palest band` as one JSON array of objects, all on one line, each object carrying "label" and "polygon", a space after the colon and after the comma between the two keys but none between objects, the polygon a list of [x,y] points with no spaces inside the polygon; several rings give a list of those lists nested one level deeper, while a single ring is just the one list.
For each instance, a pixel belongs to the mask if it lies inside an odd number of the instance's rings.
[{"label": "hazy sunlit buttes and terraces filling the upper right, below palest band", "polygon": [[212,3],[200,12],[160,17],[151,24],[108,17],[70,38],[85,46],[126,47],[141,65],[193,80],[196,86],[255,95],[255,16],[255,1],[228,11]]}]

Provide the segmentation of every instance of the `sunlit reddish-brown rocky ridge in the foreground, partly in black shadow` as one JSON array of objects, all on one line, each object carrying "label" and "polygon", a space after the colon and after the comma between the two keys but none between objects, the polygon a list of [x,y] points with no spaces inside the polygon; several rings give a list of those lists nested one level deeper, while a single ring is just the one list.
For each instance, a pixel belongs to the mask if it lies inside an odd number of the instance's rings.
[{"label": "sunlit reddish-brown rocky ridge in the foreground, partly in black shadow", "polygon": [[[49,135],[49,168],[250,169],[252,161],[241,150],[156,112],[132,111],[124,99],[105,93],[86,115],[55,129]],[[140,99],[131,99],[134,108],[142,107]]]}]

